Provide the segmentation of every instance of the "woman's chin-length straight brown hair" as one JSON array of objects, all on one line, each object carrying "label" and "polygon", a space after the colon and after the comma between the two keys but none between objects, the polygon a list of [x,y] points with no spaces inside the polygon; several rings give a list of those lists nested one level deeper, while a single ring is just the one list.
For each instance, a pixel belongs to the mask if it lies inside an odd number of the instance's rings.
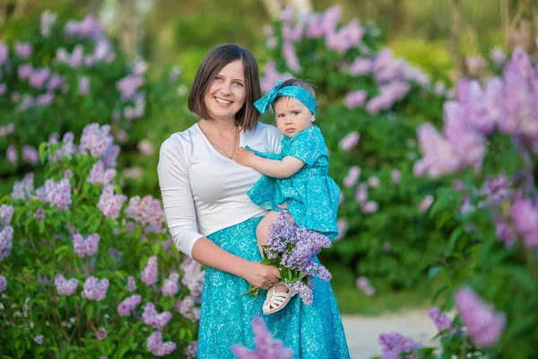
[{"label": "woman's chin-length straight brown hair", "polygon": [[212,48],[202,60],[195,75],[195,81],[188,94],[188,109],[198,118],[210,119],[209,112],[205,107],[205,94],[213,82],[213,78],[221,71],[222,67],[230,62],[241,60],[245,70],[246,98],[245,104],[235,119],[239,126],[251,129],[260,118],[260,113],[254,107],[254,101],[262,97],[260,78],[256,58],[247,49],[237,44],[222,44]]}]

